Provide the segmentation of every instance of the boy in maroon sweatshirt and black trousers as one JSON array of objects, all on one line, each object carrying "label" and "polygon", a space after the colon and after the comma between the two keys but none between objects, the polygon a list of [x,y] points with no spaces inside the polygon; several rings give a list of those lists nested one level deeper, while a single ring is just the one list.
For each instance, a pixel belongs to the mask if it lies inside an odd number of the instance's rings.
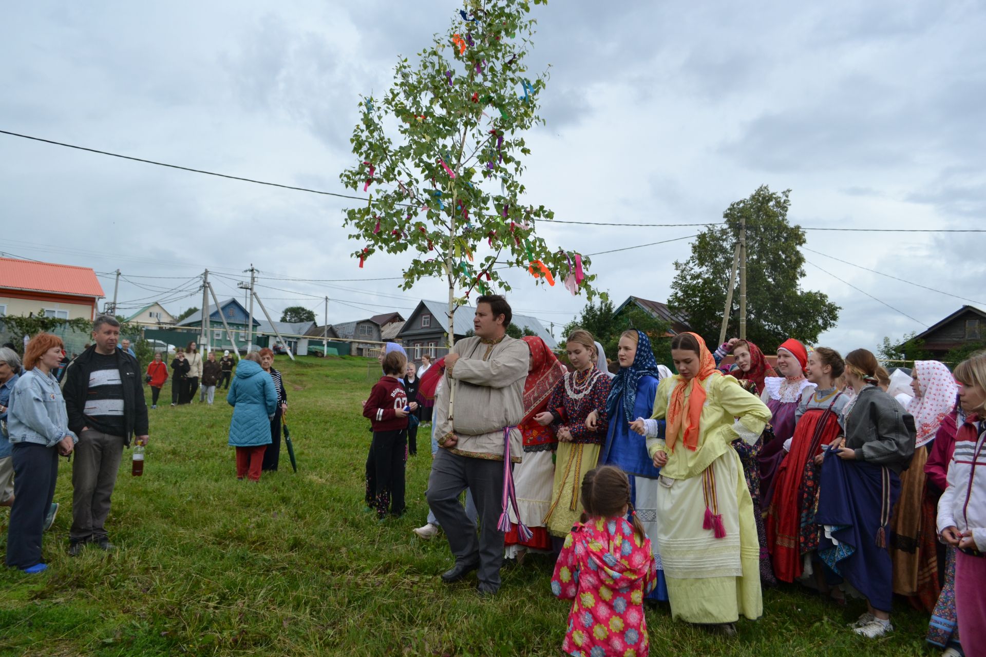
[{"label": "boy in maroon sweatshirt and black trousers", "polygon": [[384,376],[363,405],[363,416],[373,425],[373,460],[377,470],[375,506],[383,520],[390,513],[404,512],[404,449],[407,444],[407,416],[417,409],[417,402],[407,402],[400,375],[407,359],[400,352],[384,357]]}]

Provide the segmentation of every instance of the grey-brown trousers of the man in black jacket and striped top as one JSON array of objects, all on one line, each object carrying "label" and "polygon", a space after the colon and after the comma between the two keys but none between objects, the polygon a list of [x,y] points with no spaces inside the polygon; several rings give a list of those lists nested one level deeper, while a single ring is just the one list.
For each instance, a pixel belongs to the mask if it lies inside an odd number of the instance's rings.
[{"label": "grey-brown trousers of the man in black jacket and striped top", "polygon": [[106,538],[109,498],[123,458],[123,436],[88,429],[72,453],[72,529],[69,541]]}]

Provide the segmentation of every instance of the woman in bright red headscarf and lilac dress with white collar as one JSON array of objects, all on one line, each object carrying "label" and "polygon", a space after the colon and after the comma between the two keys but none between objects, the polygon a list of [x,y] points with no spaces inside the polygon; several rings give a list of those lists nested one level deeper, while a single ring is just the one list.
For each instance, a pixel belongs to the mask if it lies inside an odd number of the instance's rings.
[{"label": "woman in bright red headscarf and lilac dress with white collar", "polygon": [[772,414],[770,427],[774,437],[760,452],[760,506],[770,508],[774,493],[774,475],[784,460],[787,441],[795,434],[795,414],[802,401],[810,399],[814,384],[805,377],[808,350],[794,338],[777,348],[777,370],[780,376],[763,379],[760,401]]}]

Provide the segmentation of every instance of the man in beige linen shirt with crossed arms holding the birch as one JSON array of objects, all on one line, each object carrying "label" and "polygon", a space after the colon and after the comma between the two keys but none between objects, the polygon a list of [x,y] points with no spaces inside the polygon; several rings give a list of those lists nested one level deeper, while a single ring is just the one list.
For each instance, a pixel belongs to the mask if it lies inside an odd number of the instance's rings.
[{"label": "man in beige linen shirt with crossed arms holding the birch", "polygon": [[[504,429],[510,428],[511,462],[521,460],[527,344],[507,336],[512,312],[503,296],[480,296],[472,325],[475,337],[456,343],[445,359],[447,385],[435,401],[441,447],[432,462],[428,505],[456,558],[443,573],[458,581],[477,570],[480,595],[500,588],[504,533],[497,529],[504,487]],[[481,532],[465,515],[458,495],[465,489],[479,511]]]}]

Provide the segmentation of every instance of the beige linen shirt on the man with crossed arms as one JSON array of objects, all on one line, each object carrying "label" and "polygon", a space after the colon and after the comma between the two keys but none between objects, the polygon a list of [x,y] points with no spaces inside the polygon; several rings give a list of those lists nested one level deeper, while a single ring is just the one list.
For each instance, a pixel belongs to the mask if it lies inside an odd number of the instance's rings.
[{"label": "beige linen shirt on the man with crossed arms", "polygon": [[[452,349],[458,361],[451,373],[452,385],[442,386],[435,403],[439,436],[450,433],[458,438],[453,454],[471,458],[503,460],[503,429],[510,432],[510,460],[520,463],[523,456],[521,431],[517,425],[524,418],[524,382],[528,378],[528,345],[504,336],[498,343],[480,338],[465,338]],[[449,400],[453,387],[456,402],[449,418]]]}]

